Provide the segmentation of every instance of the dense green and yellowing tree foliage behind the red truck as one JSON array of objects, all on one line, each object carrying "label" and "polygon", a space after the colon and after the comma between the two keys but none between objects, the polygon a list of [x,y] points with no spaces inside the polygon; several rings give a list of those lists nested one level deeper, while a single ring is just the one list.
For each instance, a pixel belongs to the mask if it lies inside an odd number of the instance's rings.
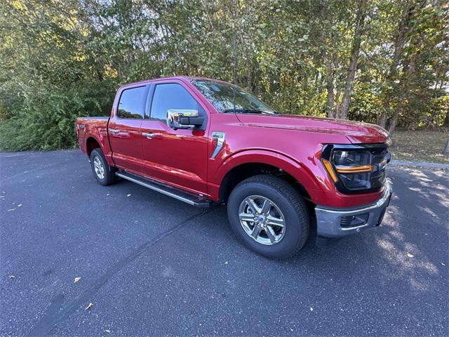
[{"label": "dense green and yellowing tree foliage behind the red truck", "polygon": [[392,128],[448,123],[448,5],[366,1],[358,31],[360,4],[1,1],[0,149],[76,146],[74,119],[108,115],[116,88],[130,81],[232,81],[234,37],[237,84],[276,110],[338,116],[354,41],[361,41],[350,119],[376,123],[383,114]]}]

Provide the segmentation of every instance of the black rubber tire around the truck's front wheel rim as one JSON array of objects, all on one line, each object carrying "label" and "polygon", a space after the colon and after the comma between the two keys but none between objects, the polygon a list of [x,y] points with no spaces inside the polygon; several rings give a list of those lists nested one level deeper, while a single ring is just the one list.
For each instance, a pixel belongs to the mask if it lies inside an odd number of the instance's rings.
[{"label": "black rubber tire around the truck's front wheel rim", "polygon": [[[285,219],[285,232],[283,232],[283,237],[279,239],[279,242],[275,244],[267,245],[257,242],[243,229],[239,219],[239,208],[246,198],[255,195],[272,201]],[[243,203],[243,205],[246,205],[246,203]],[[248,211],[250,210],[248,209]],[[241,242],[249,249],[267,258],[279,259],[294,256],[304,246],[309,236],[309,214],[304,200],[292,185],[275,176],[253,176],[239,183],[229,196],[227,214],[232,230]],[[282,230],[281,227],[275,228]],[[264,234],[268,238],[268,232],[261,233],[262,239],[264,239]]]}]

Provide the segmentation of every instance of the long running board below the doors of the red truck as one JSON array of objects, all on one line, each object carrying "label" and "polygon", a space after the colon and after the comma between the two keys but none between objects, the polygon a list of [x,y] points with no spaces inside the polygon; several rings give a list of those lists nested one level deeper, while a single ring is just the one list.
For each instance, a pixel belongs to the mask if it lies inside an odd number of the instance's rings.
[{"label": "long running board below the doors of the red truck", "polygon": [[119,176],[120,178],[132,181],[133,183],[147,187],[150,190],[154,190],[156,192],[166,194],[166,195],[168,195],[168,197],[172,197],[172,198],[178,199],[180,201],[184,201],[185,203],[192,205],[192,206],[204,208],[204,207],[209,207],[212,202],[208,199],[200,197],[199,195],[185,192],[185,191],[179,190],[175,187],[171,187],[168,185],[163,185],[162,183],[156,182],[155,180],[143,178],[143,177],[137,176],[133,173],[119,171],[119,172],[116,172],[115,174],[116,174],[116,176]]}]

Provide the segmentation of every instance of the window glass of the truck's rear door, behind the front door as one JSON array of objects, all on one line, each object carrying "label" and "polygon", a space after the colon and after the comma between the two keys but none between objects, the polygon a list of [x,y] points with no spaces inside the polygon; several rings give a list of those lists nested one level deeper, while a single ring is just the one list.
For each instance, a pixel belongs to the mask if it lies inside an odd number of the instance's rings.
[{"label": "window glass of the truck's rear door, behind the front door", "polygon": [[147,86],[138,86],[122,91],[117,116],[120,118],[143,119]]}]

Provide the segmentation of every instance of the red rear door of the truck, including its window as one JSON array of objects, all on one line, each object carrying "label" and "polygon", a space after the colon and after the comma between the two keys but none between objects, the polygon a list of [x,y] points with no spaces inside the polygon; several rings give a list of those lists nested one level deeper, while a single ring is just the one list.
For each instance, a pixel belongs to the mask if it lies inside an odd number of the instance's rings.
[{"label": "red rear door of the truck, including its window", "polygon": [[148,89],[147,85],[122,88],[108,126],[112,159],[116,166],[140,174],[145,174],[140,127]]}]

